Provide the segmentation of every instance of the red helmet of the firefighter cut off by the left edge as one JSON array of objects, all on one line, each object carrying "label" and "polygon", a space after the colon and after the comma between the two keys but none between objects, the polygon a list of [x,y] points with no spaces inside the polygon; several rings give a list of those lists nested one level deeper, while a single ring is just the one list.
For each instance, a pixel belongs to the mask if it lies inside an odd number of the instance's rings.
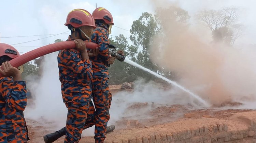
[{"label": "red helmet of the firefighter cut off by the left edge", "polygon": [[0,57],[8,56],[12,59],[19,56],[19,52],[9,44],[0,43]]}]

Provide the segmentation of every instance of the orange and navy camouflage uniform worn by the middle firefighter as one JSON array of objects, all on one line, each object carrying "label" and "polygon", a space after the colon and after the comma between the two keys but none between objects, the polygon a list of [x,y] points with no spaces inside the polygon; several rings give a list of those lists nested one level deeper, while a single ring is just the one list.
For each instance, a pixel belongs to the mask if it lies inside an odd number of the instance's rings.
[{"label": "orange and navy camouflage uniform worn by the middle firefighter", "polygon": [[67,143],[77,143],[87,119],[91,99],[93,71],[89,60],[82,60],[75,49],[61,50],[58,55],[62,99],[68,108]]}]

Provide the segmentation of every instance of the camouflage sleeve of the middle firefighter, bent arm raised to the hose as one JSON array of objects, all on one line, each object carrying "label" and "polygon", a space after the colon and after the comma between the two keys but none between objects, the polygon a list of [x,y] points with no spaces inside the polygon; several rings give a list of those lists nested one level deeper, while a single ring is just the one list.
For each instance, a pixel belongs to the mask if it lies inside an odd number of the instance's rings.
[{"label": "camouflage sleeve of the middle firefighter, bent arm raised to the hose", "polygon": [[75,50],[63,51],[60,60],[74,73],[82,74],[88,80],[93,79],[93,71],[90,60],[82,60]]}]

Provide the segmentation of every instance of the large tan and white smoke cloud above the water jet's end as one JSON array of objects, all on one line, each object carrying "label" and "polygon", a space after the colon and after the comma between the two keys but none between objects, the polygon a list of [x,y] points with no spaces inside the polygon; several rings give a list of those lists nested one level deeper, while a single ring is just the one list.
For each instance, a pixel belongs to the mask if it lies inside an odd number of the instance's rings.
[{"label": "large tan and white smoke cloud above the water jet's end", "polygon": [[[170,2],[169,6],[177,7]],[[203,25],[176,22],[172,10],[156,14],[163,32],[152,39],[152,60],[179,73],[181,85],[212,104],[256,96],[255,48],[211,43],[206,40],[210,37],[205,36]]]}]

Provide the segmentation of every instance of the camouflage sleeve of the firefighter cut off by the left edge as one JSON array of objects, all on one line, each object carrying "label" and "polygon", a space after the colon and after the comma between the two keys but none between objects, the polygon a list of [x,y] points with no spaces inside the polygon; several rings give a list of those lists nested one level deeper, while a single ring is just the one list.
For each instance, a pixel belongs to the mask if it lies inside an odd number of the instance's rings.
[{"label": "camouflage sleeve of the firefighter cut off by the left edge", "polygon": [[25,81],[13,81],[10,77],[0,80],[0,92],[8,107],[24,111],[27,106],[27,90]]}]

